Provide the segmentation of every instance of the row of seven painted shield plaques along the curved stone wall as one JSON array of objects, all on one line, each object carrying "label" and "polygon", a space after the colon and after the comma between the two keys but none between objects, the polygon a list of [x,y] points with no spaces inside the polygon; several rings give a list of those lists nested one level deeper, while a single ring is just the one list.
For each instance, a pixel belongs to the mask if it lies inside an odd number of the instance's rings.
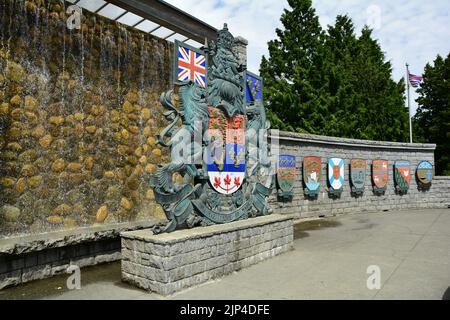
[{"label": "row of seven painted shield plaques along the curved stone wall", "polygon": [[[387,160],[373,160],[372,185],[376,195],[384,195],[389,181],[389,164]],[[393,167],[395,191],[406,194],[411,183],[411,165],[408,161],[396,161]],[[364,194],[366,186],[367,161],[352,159],[350,161],[350,187],[353,196]],[[339,198],[344,189],[345,161],[340,158],[328,159],[328,193],[332,198]],[[431,187],[434,170],[428,161],[418,164],[416,170],[417,184],[420,190]],[[278,196],[290,200],[294,196],[294,183],[297,180],[297,160],[295,156],[280,155],[277,168]],[[320,193],[322,180],[322,158],[305,157],[303,159],[304,193],[308,198],[316,198]]]}]

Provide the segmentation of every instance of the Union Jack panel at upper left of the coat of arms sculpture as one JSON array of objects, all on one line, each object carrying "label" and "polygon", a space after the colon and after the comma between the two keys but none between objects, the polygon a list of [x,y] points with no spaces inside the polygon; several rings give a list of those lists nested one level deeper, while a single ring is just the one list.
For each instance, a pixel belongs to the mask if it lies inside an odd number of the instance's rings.
[{"label": "Union Jack panel at upper left of the coat of arms sculpture", "polygon": [[178,80],[194,81],[195,84],[206,86],[206,57],[194,50],[178,46]]}]

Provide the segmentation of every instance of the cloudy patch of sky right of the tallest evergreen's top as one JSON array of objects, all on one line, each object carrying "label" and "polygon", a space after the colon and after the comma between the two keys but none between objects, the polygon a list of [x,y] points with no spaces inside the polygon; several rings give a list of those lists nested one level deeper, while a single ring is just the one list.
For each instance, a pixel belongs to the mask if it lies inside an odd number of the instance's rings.
[{"label": "cloudy patch of sky right of the tallest evergreen's top", "polygon": [[[406,62],[411,73],[419,75],[438,54],[447,56],[450,52],[450,6],[447,0],[338,0],[333,5],[329,1],[313,0],[313,5],[319,16],[335,17],[348,13],[358,31],[368,23],[367,8],[379,7],[380,25],[373,35],[391,61],[396,81],[406,75]],[[417,96],[413,90],[411,100]],[[416,108],[417,103],[412,101],[413,112]]]}]

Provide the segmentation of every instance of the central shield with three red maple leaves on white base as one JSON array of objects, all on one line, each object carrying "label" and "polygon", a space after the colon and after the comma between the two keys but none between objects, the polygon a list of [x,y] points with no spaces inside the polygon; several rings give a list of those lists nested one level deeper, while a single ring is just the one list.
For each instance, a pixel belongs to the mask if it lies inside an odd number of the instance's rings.
[{"label": "central shield with three red maple leaves on white base", "polygon": [[245,116],[228,117],[217,108],[209,108],[208,177],[217,192],[231,195],[245,179]]}]

